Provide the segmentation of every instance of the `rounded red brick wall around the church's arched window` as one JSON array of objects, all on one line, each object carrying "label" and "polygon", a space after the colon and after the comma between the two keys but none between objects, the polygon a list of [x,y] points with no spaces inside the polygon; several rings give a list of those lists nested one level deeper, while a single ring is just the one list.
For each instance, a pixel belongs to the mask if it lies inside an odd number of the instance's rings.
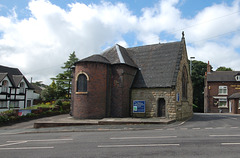
[{"label": "rounded red brick wall around the church's arched window", "polygon": [[76,93],[76,80],[73,79],[72,114],[75,118],[104,118],[107,113],[109,65],[102,63],[78,63],[75,67],[74,78],[84,72],[88,75],[87,94]]}]

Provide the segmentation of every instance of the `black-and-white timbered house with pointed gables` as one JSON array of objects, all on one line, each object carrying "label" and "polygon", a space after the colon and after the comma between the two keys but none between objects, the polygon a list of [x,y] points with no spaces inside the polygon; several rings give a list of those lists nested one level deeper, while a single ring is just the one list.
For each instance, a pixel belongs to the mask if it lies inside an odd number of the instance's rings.
[{"label": "black-and-white timbered house with pointed gables", "polygon": [[19,69],[0,65],[0,112],[32,106],[38,96]]}]

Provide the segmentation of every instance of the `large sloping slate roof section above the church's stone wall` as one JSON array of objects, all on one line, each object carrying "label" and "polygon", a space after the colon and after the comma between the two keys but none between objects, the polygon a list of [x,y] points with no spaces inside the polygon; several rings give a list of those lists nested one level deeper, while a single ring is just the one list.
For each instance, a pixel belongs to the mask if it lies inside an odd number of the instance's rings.
[{"label": "large sloping slate roof section above the church's stone wall", "polygon": [[182,58],[181,46],[181,42],[173,42],[128,48],[140,70],[133,88],[175,86]]}]

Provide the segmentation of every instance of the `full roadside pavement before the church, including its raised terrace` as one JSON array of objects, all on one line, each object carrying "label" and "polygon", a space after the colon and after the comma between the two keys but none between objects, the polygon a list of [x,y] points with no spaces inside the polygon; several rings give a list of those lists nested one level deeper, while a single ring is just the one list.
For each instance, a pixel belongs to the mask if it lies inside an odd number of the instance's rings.
[{"label": "full roadside pavement before the church, including its raised terrace", "polygon": [[165,128],[178,124],[165,118],[74,119],[69,114],[39,118],[0,127],[1,135],[58,132],[133,131]]}]

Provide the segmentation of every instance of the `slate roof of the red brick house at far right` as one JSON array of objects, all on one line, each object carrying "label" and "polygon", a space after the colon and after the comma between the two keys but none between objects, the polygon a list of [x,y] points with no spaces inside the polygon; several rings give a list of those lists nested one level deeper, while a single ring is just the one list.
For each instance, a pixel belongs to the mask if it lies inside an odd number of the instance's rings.
[{"label": "slate roof of the red brick house at far right", "polygon": [[207,74],[208,82],[233,82],[240,71],[213,71]]}]

